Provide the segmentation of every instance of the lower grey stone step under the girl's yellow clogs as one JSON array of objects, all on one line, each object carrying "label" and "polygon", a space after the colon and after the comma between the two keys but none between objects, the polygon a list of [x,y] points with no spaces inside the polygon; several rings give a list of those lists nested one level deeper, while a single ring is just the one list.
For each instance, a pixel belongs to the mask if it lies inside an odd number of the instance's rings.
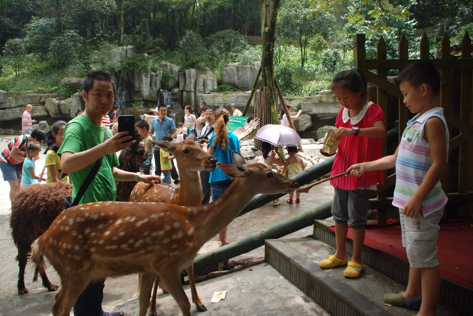
[{"label": "lower grey stone step under the girl's yellow clogs", "polygon": [[[265,241],[266,261],[332,316],[416,314],[407,308],[385,306],[383,294],[398,293],[404,287],[367,266],[358,279],[345,278],[345,266],[322,269],[319,261],[333,252],[329,245],[310,237]],[[437,315],[455,314],[442,308]]]}]

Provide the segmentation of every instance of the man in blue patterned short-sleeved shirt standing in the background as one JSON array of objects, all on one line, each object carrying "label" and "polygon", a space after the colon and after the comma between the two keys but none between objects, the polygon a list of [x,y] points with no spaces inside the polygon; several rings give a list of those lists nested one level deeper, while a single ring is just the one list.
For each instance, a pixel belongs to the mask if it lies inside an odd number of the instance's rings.
[{"label": "man in blue patterned short-sleeved shirt standing in the background", "polygon": [[[173,119],[167,117],[167,106],[166,104],[159,104],[158,106],[158,114],[159,116],[151,121],[151,127],[149,128],[149,132],[153,133],[156,140],[163,140],[164,134],[171,134],[173,139],[176,137],[177,129]],[[174,184],[179,184],[179,175],[177,174],[176,168],[174,166],[174,162],[172,162],[173,169],[171,170],[171,177],[174,179]],[[156,166],[156,170],[154,173],[157,176],[161,176],[161,163],[159,160],[159,147],[154,145],[154,165]]]}]

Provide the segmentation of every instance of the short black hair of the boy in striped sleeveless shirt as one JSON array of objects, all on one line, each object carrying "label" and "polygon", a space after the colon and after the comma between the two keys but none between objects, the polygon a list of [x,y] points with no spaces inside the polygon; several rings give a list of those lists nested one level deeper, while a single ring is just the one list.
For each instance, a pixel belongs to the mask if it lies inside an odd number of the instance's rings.
[{"label": "short black hair of the boy in striped sleeveless shirt", "polygon": [[428,60],[419,60],[404,68],[394,80],[396,85],[400,85],[403,82],[415,87],[427,84],[432,87],[432,91],[435,94],[440,93],[440,72]]}]

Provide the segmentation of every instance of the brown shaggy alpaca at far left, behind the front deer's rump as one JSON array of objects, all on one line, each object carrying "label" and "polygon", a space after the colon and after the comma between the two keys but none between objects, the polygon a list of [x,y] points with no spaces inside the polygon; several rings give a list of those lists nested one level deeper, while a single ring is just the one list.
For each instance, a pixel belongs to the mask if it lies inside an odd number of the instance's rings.
[{"label": "brown shaggy alpaca at far left, behind the front deer's rump", "polygon": [[[28,293],[25,287],[25,267],[31,244],[41,236],[62,212],[64,196],[72,195],[72,185],[59,183],[35,184],[21,190],[11,205],[10,227],[18,248],[18,294]],[[43,285],[50,291],[58,289],[41,274]]]}]

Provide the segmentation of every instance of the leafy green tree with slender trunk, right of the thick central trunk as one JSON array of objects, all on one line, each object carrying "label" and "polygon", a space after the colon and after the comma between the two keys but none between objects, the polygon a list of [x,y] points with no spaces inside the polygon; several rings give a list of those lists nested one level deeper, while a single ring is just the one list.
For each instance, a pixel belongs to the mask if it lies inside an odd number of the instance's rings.
[{"label": "leafy green tree with slender trunk, right of the thick central trunk", "polygon": [[309,8],[307,0],[286,0],[281,5],[278,17],[278,35],[299,43],[301,68],[307,59],[307,44],[316,34],[327,37],[334,25],[333,18],[325,12],[314,14],[315,9]]}]

